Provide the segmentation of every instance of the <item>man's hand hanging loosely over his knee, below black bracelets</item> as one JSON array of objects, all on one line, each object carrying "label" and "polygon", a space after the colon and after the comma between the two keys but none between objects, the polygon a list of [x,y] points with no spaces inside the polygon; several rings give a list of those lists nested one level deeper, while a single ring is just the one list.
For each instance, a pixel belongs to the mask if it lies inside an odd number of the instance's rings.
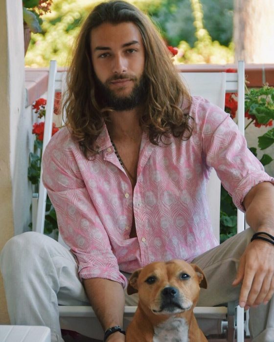
[{"label": "man's hand hanging loosely over his knee, below black bracelets", "polygon": [[274,294],[274,246],[266,241],[253,240],[240,258],[236,279],[242,282],[239,305],[245,310],[266,304]]}]

